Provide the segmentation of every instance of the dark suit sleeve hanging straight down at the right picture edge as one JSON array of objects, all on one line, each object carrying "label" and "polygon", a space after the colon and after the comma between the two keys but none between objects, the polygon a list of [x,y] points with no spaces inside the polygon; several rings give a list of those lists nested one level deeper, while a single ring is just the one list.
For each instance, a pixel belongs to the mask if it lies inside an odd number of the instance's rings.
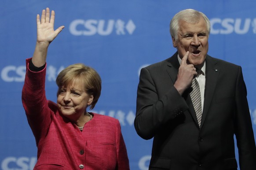
[{"label": "dark suit sleeve hanging straight down at the right picture edge", "polygon": [[236,83],[236,126],[240,170],[256,170],[256,146],[247,102],[247,91],[239,66]]}]

